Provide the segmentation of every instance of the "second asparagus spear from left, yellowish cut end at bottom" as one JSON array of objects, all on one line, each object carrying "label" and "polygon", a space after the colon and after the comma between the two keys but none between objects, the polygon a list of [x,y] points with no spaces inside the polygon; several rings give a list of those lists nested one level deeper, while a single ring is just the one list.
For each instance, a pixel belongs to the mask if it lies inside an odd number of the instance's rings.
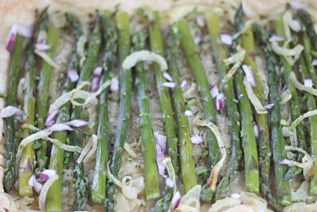
[{"label": "second asparagus spear from left, yellowish cut end at bottom", "polygon": [[[42,30],[46,31],[49,23],[49,17],[47,13],[48,8],[46,8],[41,16],[39,17],[38,22],[35,25],[34,36],[27,46],[27,61],[25,64],[25,85],[27,85],[24,95],[24,108],[23,117],[27,117],[23,124],[34,125],[34,110],[36,98],[34,96],[35,82],[34,82],[34,66],[35,66],[35,55],[34,55],[34,44],[38,33]],[[30,135],[30,130],[27,128],[23,129],[23,138],[27,138]],[[19,168],[19,190],[21,196],[33,195],[33,188],[29,185],[29,179],[33,174],[33,159],[34,159],[34,149],[32,148],[34,142],[31,142],[26,145],[23,150],[21,163]]]}]

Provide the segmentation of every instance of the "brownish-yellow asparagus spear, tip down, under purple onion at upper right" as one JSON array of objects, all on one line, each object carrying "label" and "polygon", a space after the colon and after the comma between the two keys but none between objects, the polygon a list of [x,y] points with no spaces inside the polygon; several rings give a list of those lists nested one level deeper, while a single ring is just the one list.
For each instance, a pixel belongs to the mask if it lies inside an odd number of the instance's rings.
[{"label": "brownish-yellow asparagus spear, tip down, under purple onion at upper right", "polygon": [[[251,25],[248,29],[242,34],[242,48],[245,49],[247,55],[244,58],[243,63],[249,65],[254,72],[256,79],[257,88],[254,88],[253,91],[256,94],[257,98],[260,100],[261,104],[264,105],[263,99],[263,90],[261,87],[259,75],[257,74],[257,67],[255,61],[252,59],[252,54],[255,54],[254,48],[254,37],[251,30]],[[261,190],[264,196],[267,196],[270,192],[268,175],[270,173],[270,162],[271,162],[271,147],[269,143],[269,129],[268,129],[268,119],[266,114],[255,114],[256,123],[259,130],[259,168],[261,173]]]}]

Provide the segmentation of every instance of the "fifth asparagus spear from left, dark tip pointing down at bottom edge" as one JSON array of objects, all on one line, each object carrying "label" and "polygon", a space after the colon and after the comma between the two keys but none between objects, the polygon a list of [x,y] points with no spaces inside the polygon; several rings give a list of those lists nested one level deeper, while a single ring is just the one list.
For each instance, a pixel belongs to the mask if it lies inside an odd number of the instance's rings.
[{"label": "fifth asparagus spear from left, dark tip pointing down at bottom edge", "polygon": [[[87,50],[87,59],[85,64],[83,65],[79,79],[77,82],[77,86],[81,85],[83,81],[87,81],[90,77],[91,71],[94,67],[94,64],[97,60],[98,53],[100,50],[101,44],[101,32],[100,32],[100,23],[97,20],[93,34],[89,40],[88,50]],[[82,90],[85,90],[87,86],[85,86]],[[83,102],[83,99],[76,99],[78,102]],[[83,106],[75,106],[72,109],[71,120],[81,119]],[[71,143],[73,146],[82,146],[81,144],[81,128],[74,127],[74,131],[71,132]],[[77,160],[79,158],[79,153],[73,153],[73,158],[75,162],[75,170],[74,174],[77,178],[75,181],[75,189],[76,189],[76,197],[74,200],[74,210],[83,210],[86,206],[86,202],[88,200],[88,190],[89,190],[89,182],[88,177],[84,171],[83,163],[78,163]]]}]

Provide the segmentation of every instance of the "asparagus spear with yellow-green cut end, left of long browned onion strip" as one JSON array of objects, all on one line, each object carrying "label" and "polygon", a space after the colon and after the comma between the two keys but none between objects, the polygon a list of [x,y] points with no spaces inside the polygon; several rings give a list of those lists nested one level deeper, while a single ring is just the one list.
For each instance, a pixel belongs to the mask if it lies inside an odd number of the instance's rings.
[{"label": "asparagus spear with yellow-green cut end, left of long browned onion strip", "polygon": [[[179,68],[177,61],[179,58],[178,47],[181,37],[182,34],[176,25],[171,25],[167,38],[167,58],[169,63],[169,72],[173,82],[176,83],[179,83]],[[197,185],[195,160],[193,160],[194,156],[193,150],[191,148],[191,132],[189,130],[187,116],[185,115],[186,105],[184,102],[182,89],[181,87],[175,87],[171,92],[178,129],[180,166],[183,177],[184,191],[187,193],[192,187]]]}]

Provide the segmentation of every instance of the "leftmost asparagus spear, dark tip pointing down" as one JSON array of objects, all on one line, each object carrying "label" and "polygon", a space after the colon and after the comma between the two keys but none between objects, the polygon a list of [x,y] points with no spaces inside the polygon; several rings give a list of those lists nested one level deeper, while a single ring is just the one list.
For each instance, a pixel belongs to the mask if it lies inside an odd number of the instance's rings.
[{"label": "leftmost asparagus spear, dark tip pointing down", "polygon": [[[13,51],[11,54],[10,71],[9,71],[9,86],[7,92],[6,106],[13,106],[16,101],[16,89],[20,72],[20,59],[22,53],[23,37],[19,34],[16,35],[16,42],[14,43]],[[5,144],[7,156],[5,157],[6,168],[4,170],[4,191],[9,192],[15,181],[15,161],[14,149],[14,116],[5,119],[6,133]]]}]

